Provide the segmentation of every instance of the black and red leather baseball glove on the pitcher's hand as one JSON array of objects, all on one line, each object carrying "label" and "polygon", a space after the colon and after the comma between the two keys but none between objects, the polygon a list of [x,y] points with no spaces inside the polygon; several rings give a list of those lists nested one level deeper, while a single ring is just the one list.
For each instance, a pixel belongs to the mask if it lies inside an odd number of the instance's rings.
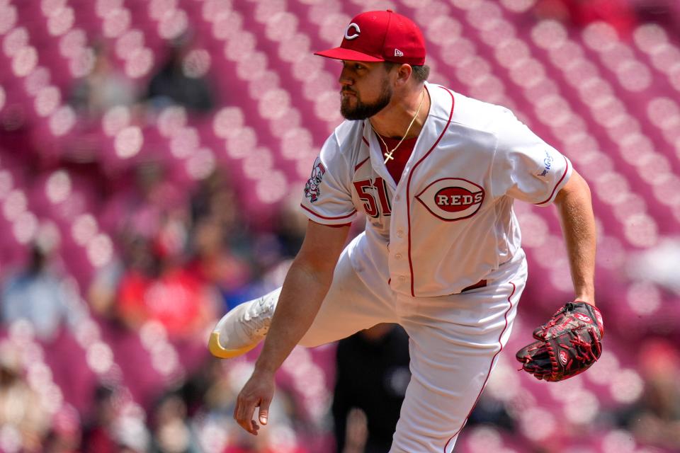
[{"label": "black and red leather baseball glove on the pitcher's hand", "polygon": [[604,323],[600,311],[586,302],[569,302],[536,328],[537,341],[517,352],[524,371],[556,382],[584,372],[602,353]]}]

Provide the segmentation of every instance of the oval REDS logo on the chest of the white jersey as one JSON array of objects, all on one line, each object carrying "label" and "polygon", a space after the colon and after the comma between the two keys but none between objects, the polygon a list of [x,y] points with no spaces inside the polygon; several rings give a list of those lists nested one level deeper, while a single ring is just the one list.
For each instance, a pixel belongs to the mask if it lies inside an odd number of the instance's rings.
[{"label": "oval REDS logo on the chest of the white jersey", "polygon": [[434,181],[416,195],[434,216],[453,222],[467,219],[480,210],[484,189],[461,178],[442,178]]}]

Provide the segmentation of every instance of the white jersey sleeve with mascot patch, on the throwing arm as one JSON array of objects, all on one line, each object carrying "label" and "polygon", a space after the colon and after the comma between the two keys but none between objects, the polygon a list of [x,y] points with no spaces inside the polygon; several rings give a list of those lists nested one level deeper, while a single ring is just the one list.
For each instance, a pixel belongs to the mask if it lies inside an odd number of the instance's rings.
[{"label": "white jersey sleeve with mascot patch, on the throwing arm", "polygon": [[356,218],[350,165],[341,154],[335,134],[326,140],[312,165],[300,205],[305,215],[319,224],[348,224]]}]

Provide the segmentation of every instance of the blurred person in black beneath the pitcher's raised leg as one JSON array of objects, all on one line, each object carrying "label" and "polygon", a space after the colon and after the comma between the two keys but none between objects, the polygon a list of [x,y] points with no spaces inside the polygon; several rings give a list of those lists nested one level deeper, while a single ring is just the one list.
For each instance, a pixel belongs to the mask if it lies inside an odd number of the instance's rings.
[{"label": "blurred person in black beneath the pitcher's raised leg", "polygon": [[332,411],[337,451],[390,451],[411,379],[409,337],[400,326],[378,324],[340,340],[336,357]]}]

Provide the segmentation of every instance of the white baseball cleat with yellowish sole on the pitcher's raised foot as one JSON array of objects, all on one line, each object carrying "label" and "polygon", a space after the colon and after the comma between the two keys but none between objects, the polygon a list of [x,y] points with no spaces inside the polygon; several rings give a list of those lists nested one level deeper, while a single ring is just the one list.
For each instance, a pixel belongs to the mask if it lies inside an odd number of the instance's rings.
[{"label": "white baseball cleat with yellowish sole on the pitcher's raised foot", "polygon": [[281,289],[229,310],[210,334],[208,349],[215,357],[231,359],[255,348],[269,331]]}]

